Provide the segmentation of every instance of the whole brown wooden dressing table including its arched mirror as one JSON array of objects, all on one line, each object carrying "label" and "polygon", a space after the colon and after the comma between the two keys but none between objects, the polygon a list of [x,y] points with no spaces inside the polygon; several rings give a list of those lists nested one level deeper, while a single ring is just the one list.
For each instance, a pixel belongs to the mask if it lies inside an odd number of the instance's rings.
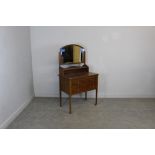
[{"label": "whole brown wooden dressing table including its arched mirror", "polygon": [[59,52],[59,92],[62,106],[62,91],[69,95],[69,113],[72,112],[72,95],[96,90],[95,105],[97,105],[98,74],[89,72],[85,62],[85,49],[76,44],[62,47]]}]

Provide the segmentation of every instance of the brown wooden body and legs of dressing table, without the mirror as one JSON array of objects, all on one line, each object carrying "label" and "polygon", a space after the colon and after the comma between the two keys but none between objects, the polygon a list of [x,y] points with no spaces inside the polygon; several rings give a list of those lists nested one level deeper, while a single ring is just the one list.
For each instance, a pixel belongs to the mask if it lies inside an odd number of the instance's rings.
[{"label": "brown wooden body and legs of dressing table, without the mirror", "polygon": [[[85,57],[84,57],[85,62]],[[59,54],[59,93],[60,106],[62,106],[62,94],[65,92],[69,95],[69,113],[72,113],[71,97],[78,93],[85,93],[87,99],[87,91],[96,90],[95,105],[97,105],[98,93],[98,74],[89,72],[89,67],[84,63],[83,66],[72,66],[63,68],[62,59]]]}]

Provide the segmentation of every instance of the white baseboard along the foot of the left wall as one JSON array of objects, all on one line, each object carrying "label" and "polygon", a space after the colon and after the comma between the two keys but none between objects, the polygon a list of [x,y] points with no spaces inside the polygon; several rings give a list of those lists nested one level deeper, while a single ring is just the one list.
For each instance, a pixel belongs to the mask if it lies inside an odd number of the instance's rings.
[{"label": "white baseboard along the foot of the left wall", "polygon": [[11,122],[25,109],[25,107],[31,102],[34,96],[32,96],[28,101],[24,102],[15,112],[13,112],[9,118],[7,118],[1,125],[0,129],[6,129]]}]

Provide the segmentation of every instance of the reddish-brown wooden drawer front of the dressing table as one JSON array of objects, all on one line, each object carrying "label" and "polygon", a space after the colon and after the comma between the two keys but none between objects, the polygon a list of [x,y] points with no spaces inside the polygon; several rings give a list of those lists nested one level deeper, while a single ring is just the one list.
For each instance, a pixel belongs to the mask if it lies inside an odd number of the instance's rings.
[{"label": "reddish-brown wooden drawer front of the dressing table", "polygon": [[85,92],[97,88],[97,76],[73,79],[71,84],[72,94]]}]

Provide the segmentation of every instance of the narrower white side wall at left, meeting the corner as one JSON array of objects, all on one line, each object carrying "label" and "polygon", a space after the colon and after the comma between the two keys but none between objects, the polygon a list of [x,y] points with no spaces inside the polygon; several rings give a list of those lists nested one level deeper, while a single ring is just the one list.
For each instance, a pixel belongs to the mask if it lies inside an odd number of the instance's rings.
[{"label": "narrower white side wall at left, meeting the corner", "polygon": [[0,128],[34,95],[29,27],[0,27]]}]

